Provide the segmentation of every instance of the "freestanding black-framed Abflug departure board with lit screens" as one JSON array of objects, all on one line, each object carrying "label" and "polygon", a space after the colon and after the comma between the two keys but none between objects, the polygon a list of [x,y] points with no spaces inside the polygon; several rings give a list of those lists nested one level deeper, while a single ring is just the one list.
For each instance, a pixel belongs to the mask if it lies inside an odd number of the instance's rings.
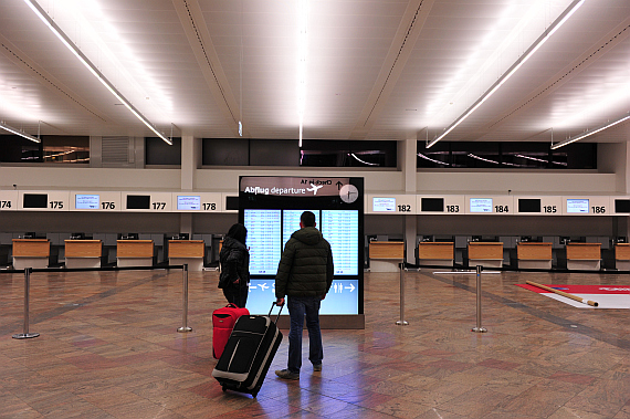
[{"label": "freestanding black-framed Abflug departure board with lit screens", "polygon": [[[364,179],[241,176],[239,222],[248,229],[250,289],[246,308],[266,314],[275,300],[275,275],[304,211],[330,243],[334,280],[323,315],[364,314]],[[393,197],[391,197],[393,198]],[[396,201],[388,201],[391,206]],[[378,207],[378,206],[377,206]],[[354,318],[351,322],[360,320]]]}]

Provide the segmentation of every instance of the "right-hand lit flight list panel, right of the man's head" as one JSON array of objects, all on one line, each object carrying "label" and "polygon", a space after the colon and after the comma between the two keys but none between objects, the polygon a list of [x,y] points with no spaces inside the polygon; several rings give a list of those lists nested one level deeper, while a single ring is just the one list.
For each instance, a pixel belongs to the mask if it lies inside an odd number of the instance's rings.
[{"label": "right-hand lit flight list panel, right of the man's head", "polygon": [[322,234],[333,249],[335,275],[358,274],[358,224],[359,214],[356,210],[322,211]]}]

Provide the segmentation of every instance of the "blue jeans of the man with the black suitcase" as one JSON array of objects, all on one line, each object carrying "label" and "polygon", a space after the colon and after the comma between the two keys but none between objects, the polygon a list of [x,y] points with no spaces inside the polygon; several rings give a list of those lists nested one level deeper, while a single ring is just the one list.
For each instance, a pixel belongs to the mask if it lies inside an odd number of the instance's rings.
[{"label": "blue jeans of the man with the black suitcase", "polygon": [[302,331],[304,316],[308,329],[308,359],[313,365],[322,364],[324,348],[322,347],[322,332],[319,331],[319,296],[288,296],[286,305],[291,317],[288,329],[288,370],[300,374],[302,367]]}]

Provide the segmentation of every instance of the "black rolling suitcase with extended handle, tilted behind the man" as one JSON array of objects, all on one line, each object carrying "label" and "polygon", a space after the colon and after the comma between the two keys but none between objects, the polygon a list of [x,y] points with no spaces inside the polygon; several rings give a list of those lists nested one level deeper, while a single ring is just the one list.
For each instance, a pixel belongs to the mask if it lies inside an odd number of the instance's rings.
[{"label": "black rolling suitcase with extended handle, tilted behind the man", "polygon": [[282,306],[271,320],[272,304],[269,315],[243,315],[239,317],[223,354],[212,370],[223,391],[230,389],[249,392],[256,397],[277,347],[282,342],[282,333],[276,326]]}]

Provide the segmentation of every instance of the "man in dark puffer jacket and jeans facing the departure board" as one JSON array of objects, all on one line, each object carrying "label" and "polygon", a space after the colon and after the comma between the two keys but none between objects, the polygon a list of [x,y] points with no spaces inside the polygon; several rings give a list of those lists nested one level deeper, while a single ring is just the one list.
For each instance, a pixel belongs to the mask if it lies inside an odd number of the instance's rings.
[{"label": "man in dark puffer jacket and jeans facing the departure board", "polygon": [[284,305],[286,295],[291,317],[288,365],[286,369],[275,371],[280,378],[300,379],[305,315],[308,359],[313,364],[313,370],[322,370],[324,348],[319,331],[319,305],[330,290],[335,270],[330,244],[315,227],[315,214],[304,211],[300,217],[300,230],[291,235],[284,247],[275,275],[276,304]]}]

